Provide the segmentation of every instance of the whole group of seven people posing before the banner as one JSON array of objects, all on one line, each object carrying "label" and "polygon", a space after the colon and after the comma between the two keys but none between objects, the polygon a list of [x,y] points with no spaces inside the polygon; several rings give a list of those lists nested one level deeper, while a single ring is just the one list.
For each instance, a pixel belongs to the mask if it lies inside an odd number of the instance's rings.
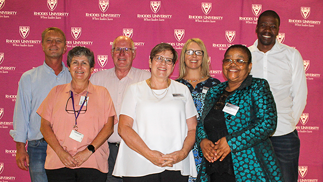
[{"label": "whole group of seven people posing before the banner", "polygon": [[47,28],[45,61],[18,88],[18,167],[32,181],[297,181],[306,78],[299,52],[277,41],[279,26],[263,12],[255,43],[227,49],[222,83],[199,38],[180,57],[157,44],[147,72],[132,67],[134,43],[119,36],[115,67],[91,75],[93,52],[73,48],[65,67],[66,37]]}]

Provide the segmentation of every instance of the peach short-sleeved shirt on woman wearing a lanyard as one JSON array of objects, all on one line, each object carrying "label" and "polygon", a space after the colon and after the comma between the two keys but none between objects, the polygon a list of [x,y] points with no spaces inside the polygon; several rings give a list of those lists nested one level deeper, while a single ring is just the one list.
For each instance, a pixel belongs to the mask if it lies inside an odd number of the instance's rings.
[{"label": "peach short-sleeved shirt on woman wearing a lanyard", "polygon": [[[73,91],[74,107],[72,100],[69,100],[71,96],[70,90]],[[81,110],[81,103],[85,99],[84,96],[88,98],[87,106],[82,107],[82,110],[86,108],[86,112],[79,114],[77,117],[77,131],[84,134],[84,138],[81,142],[77,142],[69,138],[73,126],[76,124],[75,114],[66,112],[65,108],[69,110],[75,109],[76,111]],[[107,123],[108,118],[116,116],[109,92],[107,92],[106,88],[93,85],[91,82],[80,94],[74,92],[71,83],[53,87],[39,106],[37,113],[50,122],[51,129],[58,142],[72,156],[86,149]],[[117,117],[115,117],[114,123],[117,122]],[[104,142],[82,165],[72,168],[94,168],[107,173],[109,171],[107,163],[109,154],[109,145]],[[45,169],[60,169],[63,167],[66,166],[56,152],[48,146]]]}]

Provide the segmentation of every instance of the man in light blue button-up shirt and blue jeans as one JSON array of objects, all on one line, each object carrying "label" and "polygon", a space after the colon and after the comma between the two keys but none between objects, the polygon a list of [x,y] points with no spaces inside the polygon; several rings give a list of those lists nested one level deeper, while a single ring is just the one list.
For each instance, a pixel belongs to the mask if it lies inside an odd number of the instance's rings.
[{"label": "man in light blue button-up shirt and blue jeans", "polygon": [[63,54],[67,51],[64,32],[56,27],[47,28],[41,34],[41,42],[45,61],[21,76],[13,117],[14,129],[10,130],[16,142],[17,165],[23,170],[29,169],[32,182],[47,181],[44,169],[47,143],[39,130],[41,117],[36,110],[52,87],[72,80],[68,68],[62,63]]}]

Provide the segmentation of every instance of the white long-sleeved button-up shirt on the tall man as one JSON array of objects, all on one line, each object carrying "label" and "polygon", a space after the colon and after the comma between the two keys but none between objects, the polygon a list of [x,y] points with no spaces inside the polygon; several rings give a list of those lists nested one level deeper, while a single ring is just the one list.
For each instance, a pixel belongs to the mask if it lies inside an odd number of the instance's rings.
[{"label": "white long-sleeved button-up shirt on the tall man", "polygon": [[300,53],[276,40],[274,47],[263,53],[258,40],[249,47],[252,54],[253,77],[266,79],[277,106],[278,124],[274,136],[295,130],[306,105],[307,84]]}]

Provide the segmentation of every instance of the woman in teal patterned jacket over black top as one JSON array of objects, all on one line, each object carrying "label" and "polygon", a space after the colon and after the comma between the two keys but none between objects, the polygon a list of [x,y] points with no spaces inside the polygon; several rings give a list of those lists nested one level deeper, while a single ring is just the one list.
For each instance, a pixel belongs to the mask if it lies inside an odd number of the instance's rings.
[{"label": "woman in teal patterned jacket over black top", "polygon": [[226,51],[228,81],[208,90],[196,129],[204,156],[197,181],[284,181],[269,139],[277,126],[274,97],[265,79],[249,75],[251,68],[248,48]]}]

